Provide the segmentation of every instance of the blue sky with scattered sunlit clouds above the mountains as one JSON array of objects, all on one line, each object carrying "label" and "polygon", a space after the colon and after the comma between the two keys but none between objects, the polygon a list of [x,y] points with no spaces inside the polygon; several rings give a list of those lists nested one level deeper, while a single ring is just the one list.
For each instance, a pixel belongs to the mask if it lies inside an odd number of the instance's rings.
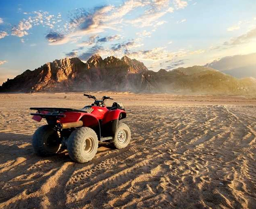
[{"label": "blue sky with scattered sunlit clouds above the mountains", "polygon": [[1,0],[0,85],[65,57],[126,55],[149,70],[256,52],[255,0]]}]

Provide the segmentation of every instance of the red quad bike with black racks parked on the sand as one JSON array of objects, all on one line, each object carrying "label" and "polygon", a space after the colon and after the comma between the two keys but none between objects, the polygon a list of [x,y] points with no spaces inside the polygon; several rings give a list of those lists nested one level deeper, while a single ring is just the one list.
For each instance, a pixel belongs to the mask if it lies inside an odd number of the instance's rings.
[{"label": "red quad bike with black racks parked on the sand", "polygon": [[125,148],[131,138],[131,131],[127,124],[120,120],[126,118],[124,106],[114,102],[106,107],[107,96],[94,103],[77,110],[72,108],[31,107],[36,110],[31,113],[33,119],[40,122],[47,120],[47,125],[39,127],[33,135],[34,151],[39,156],[50,156],[64,149],[72,160],[86,163],[92,160],[100,142],[111,142],[117,149]]}]

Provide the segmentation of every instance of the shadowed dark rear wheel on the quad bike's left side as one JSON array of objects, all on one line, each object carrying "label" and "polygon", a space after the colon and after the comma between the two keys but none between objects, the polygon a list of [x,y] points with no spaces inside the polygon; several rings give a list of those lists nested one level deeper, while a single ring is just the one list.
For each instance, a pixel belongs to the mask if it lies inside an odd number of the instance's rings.
[{"label": "shadowed dark rear wheel on the quad bike's left side", "polygon": [[61,147],[58,132],[49,125],[43,125],[35,131],[32,145],[35,153],[43,157],[56,154]]}]

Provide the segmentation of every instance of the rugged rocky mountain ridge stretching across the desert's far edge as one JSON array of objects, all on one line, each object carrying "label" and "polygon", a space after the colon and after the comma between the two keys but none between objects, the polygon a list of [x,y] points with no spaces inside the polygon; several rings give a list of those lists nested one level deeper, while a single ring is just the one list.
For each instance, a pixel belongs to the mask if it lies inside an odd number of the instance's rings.
[{"label": "rugged rocky mountain ridge stretching across the desert's far edge", "polygon": [[78,58],[54,60],[0,86],[0,92],[102,90],[255,95],[256,79],[237,79],[202,66],[154,72],[126,56],[102,59],[95,54],[86,63]]}]

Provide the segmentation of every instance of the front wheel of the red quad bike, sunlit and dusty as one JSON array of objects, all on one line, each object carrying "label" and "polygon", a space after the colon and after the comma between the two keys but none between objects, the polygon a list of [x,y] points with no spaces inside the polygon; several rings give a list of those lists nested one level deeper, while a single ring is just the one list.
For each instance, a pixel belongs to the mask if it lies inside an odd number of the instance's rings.
[{"label": "front wheel of the red quad bike, sunlit and dusty", "polygon": [[115,131],[115,137],[113,140],[113,144],[117,149],[122,149],[127,147],[131,140],[131,131],[127,124],[124,123],[118,123],[116,131]]}]

